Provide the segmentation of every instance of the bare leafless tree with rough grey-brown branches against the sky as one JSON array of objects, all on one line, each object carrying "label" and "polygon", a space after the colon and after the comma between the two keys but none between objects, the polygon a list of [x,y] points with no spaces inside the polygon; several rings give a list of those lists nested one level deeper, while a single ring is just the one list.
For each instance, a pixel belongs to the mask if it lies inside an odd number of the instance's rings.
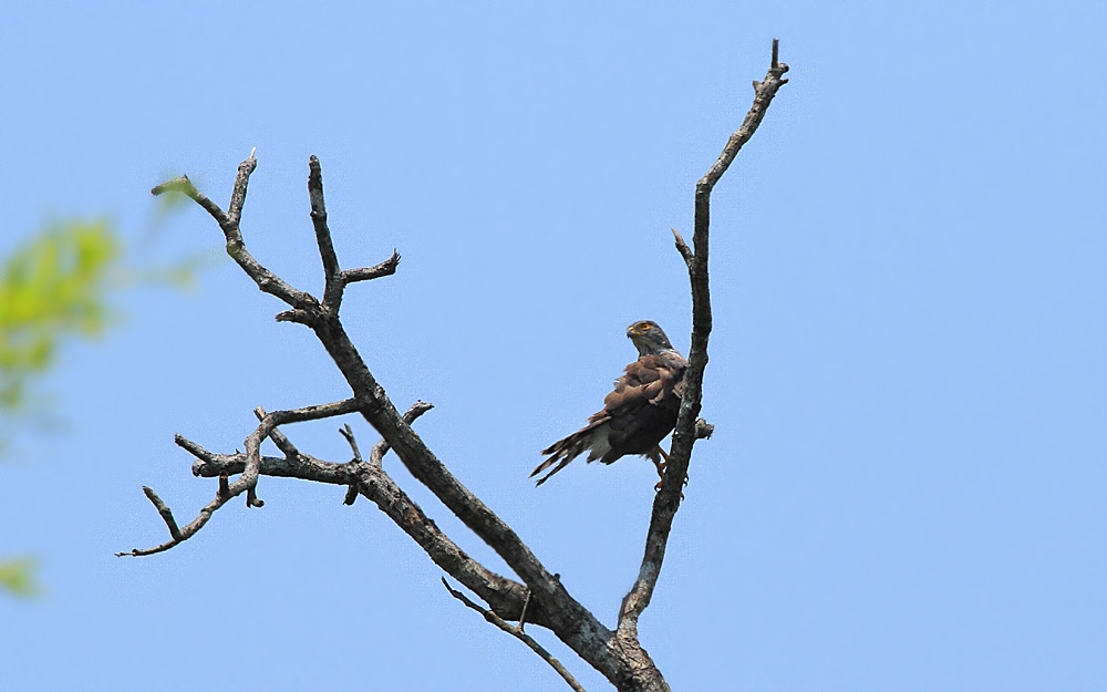
[{"label": "bare leafless tree with rough grey-brown branches against the sky", "polygon": [[[558,575],[550,574],[511,527],[466,489],[412,430],[412,423],[428,411],[431,404],[416,402],[401,414],[389,400],[384,388],[377,383],[365,365],[339,318],[342,295],[350,283],[394,273],[400,256],[393,254],[375,267],[342,269],[339,266],[331,234],[327,227],[322,174],[319,159],[314,156],[309,163],[308,194],[311,200],[311,220],[325,277],[322,300],[293,288],[261,266],[246,249],[239,218],[242,205],[246,203],[250,174],[257,166],[252,152],[238,167],[230,206],[226,211],[200,193],[187,177],[158,185],[152,192],[155,195],[168,192],[183,193],[215,218],[226,237],[227,252],[238,262],[242,271],[254,279],[259,289],[288,304],[289,309],[278,313],[277,320],[298,322],[311,329],[345,378],[353,394],[343,401],[292,411],[267,413],[260,407],[256,409],[255,413],[260,423],[247,435],[244,453],[208,452],[195,442],[177,435],[177,444],[196,457],[193,473],[219,479],[215,499],[200,509],[196,519],[184,527],[178,527],[165,503],[154,490],[144,487],[146,496],[169,529],[169,540],[153,548],[134,549],[117,555],[145,556],[168,550],[194,536],[219,507],[242,493],[246,493],[248,507],[261,507],[263,503],[257,496],[257,485],[258,477],[262,475],[343,485],[349,488],[345,496],[348,505],[353,504],[359,495],[375,503],[438,567],[475,593],[487,607],[474,602],[443,579],[453,596],[469,608],[482,612],[489,622],[524,641],[552,665],[572,689],[582,688],[559,661],[524,631],[525,623],[548,628],[581,659],[610,680],[618,690],[668,692],[669,684],[661,671],[639,643],[638,619],[650,605],[650,598],[661,574],[673,517],[681,505],[681,488],[687,474],[692,446],[696,440],[708,436],[712,430],[711,425],[697,419],[703,373],[707,364],[707,337],[711,333],[711,304],[707,291],[711,190],[734,161],[742,145],[757,130],[777,90],[787,83],[784,79],[787,71],[788,66],[777,60],[777,42],[774,41],[768,73],[763,82],[754,82],[753,106],[742,126],[731,135],[718,159],[696,184],[693,247],[690,248],[680,233],[673,230],[676,249],[687,265],[692,286],[690,365],[680,415],[673,432],[668,469],[653,503],[642,565],[638,578],[622,600],[614,630],[600,622],[578,602],[561,586]],[[381,441],[373,445],[368,459],[362,457],[349,425],[342,430],[342,434],[350,443],[353,458],[341,464],[325,462],[301,452],[279,430],[281,425],[288,423],[351,413],[362,415],[381,434]],[[260,454],[259,447],[266,437],[277,445],[283,456]],[[411,497],[384,472],[381,459],[389,450],[394,451],[411,474],[434,493],[457,518],[492,546],[521,581],[493,572],[464,552],[430,520],[418,505],[412,502]],[[229,479],[232,475],[238,475],[234,482]]]}]

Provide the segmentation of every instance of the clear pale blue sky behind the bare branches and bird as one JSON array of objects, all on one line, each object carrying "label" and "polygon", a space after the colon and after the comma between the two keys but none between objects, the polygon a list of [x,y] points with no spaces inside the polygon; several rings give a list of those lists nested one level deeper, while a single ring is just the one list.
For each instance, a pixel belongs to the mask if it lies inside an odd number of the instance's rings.
[{"label": "clear pale blue sky behind the bare branches and bird", "polygon": [[[10,247],[108,216],[132,261],[219,250],[258,147],[255,255],[321,285],[304,189],[322,161],[344,266],[393,248],[348,330],[420,434],[613,623],[652,466],[535,489],[633,357],[638,319],[689,343],[670,227],[741,122],[773,38],[792,81],[716,187],[715,330],[696,446],[641,636],[674,689],[1090,690],[1107,676],[1101,3],[11,3],[0,10]],[[48,383],[64,427],[0,464],[0,690],[561,690],[454,601],[370,503],[262,478],[178,548],[214,494],[173,444],[241,447],[254,406],[346,392],[229,261]],[[351,421],[363,448],[375,440]],[[328,421],[286,430],[333,461]],[[503,565],[394,457],[463,547]],[[537,636],[590,690],[606,681]]]}]

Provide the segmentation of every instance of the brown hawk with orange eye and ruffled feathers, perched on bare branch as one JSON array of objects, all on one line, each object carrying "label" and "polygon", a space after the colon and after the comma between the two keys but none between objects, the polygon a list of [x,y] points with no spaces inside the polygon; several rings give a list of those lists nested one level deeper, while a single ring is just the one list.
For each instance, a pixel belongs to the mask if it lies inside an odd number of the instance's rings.
[{"label": "brown hawk with orange eye and ruffled feathers, perched on bare branch", "polygon": [[676,425],[689,362],[669,343],[656,322],[634,322],[627,328],[627,335],[638,347],[638,360],[615,380],[615,390],[603,400],[603,410],[588,419],[588,425],[542,450],[550,457],[530,477],[557,466],[539,478],[538,485],[586,450],[589,462],[599,459],[604,464],[627,454],[641,454],[654,463],[659,474],[663,473],[661,457],[668,461],[668,455],[658,443]]}]

